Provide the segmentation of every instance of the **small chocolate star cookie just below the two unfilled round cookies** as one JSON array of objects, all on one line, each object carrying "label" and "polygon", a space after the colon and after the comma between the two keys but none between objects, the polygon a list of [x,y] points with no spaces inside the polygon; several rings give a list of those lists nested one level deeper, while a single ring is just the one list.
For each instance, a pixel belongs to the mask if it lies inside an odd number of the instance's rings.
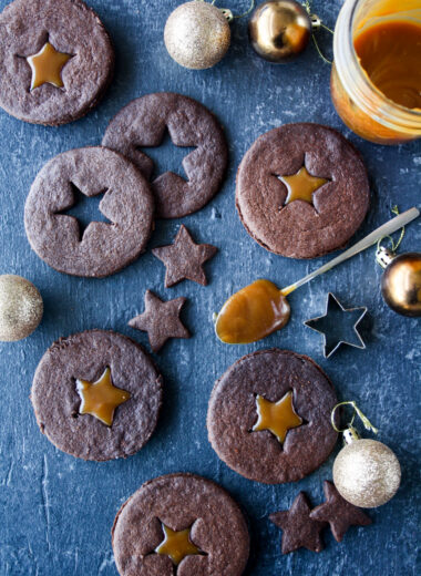
[{"label": "small chocolate star cookie just below the two unfilled round cookies", "polygon": [[210,244],[195,244],[187,228],[182,224],[174,244],[154,248],[152,254],[164,263],[165,288],[170,288],[184,279],[206,286],[207,279],[203,265],[217,251],[218,249]]}]

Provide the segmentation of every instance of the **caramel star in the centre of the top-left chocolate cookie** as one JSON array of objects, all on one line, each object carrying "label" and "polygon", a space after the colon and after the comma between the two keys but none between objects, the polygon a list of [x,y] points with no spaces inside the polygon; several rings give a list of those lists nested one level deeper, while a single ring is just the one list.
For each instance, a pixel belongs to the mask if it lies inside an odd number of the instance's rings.
[{"label": "caramel star in the centre of the top-left chocolate cookie", "polygon": [[32,70],[31,91],[42,84],[64,88],[61,73],[71,58],[72,54],[59,52],[50,42],[45,42],[37,54],[28,56],[27,61]]}]

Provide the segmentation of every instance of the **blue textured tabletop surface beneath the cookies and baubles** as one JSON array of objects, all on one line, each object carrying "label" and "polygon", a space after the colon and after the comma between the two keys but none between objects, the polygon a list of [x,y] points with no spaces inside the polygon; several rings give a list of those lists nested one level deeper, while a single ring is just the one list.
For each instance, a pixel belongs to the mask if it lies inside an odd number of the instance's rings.
[{"label": "blue textured tabletop surface beneath the cookies and baubles", "polygon": [[[30,1],[30,0],[29,0]],[[1,0],[1,8],[6,6]],[[120,505],[144,481],[175,471],[203,474],[225,486],[248,515],[251,555],[247,574],[414,575],[419,503],[417,438],[420,430],[419,321],[383,304],[373,249],[357,256],[290,297],[288,327],[264,342],[226,347],[213,333],[212,312],[234,290],[256,276],[290,284],[326,261],[274,256],[249,238],[234,207],[235,173],[254,140],[285,122],[314,121],[338,127],[361,151],[371,177],[372,204],[358,237],[390,216],[419,203],[421,142],[381,147],[345,128],[329,95],[329,66],[310,48],[299,62],[274,66],[254,55],[246,20],[233,25],[233,44],[216,68],[179,68],[163,43],[164,23],[177,0],[90,0],[111,32],[116,75],[105,100],[88,117],[60,128],[32,126],[0,112],[0,272],[28,277],[41,290],[45,316],[27,340],[0,343],[1,461],[0,574],[25,576],[115,576],[110,528]],[[243,11],[245,1],[230,0]],[[333,25],[341,2],[315,2],[315,11]],[[222,6],[222,4],[220,4]],[[330,39],[324,37],[329,45]],[[154,91],[188,94],[213,110],[229,140],[229,174],[218,196],[202,212],[183,218],[196,240],[215,244],[219,254],[207,265],[209,286],[182,282],[164,289],[164,267],[148,251],[122,272],[103,280],[60,275],[31,251],[23,229],[23,204],[41,166],[55,154],[101,142],[110,119],[130,100]],[[179,169],[183,152],[156,151],[162,168]],[[170,243],[181,222],[158,222],[151,246]],[[402,250],[421,249],[421,223],[412,224]],[[88,328],[114,329],[146,344],[127,321],[143,310],[147,288],[166,299],[186,296],[184,320],[191,340],[173,340],[157,358],[165,377],[165,405],[156,433],[126,461],[85,463],[57,451],[38,430],[29,401],[31,380],[44,350],[60,336]],[[342,348],[322,357],[321,338],[302,321],[322,312],[326,294],[346,306],[368,306],[367,350]],[[214,381],[240,356],[280,347],[312,357],[332,379],[341,399],[356,399],[379,426],[402,465],[402,486],[389,504],[372,511],[367,528],[351,528],[341,544],[326,532],[326,549],[281,556],[280,531],[267,515],[289,507],[300,490],[321,502],[321,485],[331,477],[335,454],[297,484],[265,486],[228,470],[212,450],[205,416]],[[338,443],[338,450],[339,450]],[[215,575],[218,576],[218,575]],[[222,575],[220,575],[222,576]]]}]

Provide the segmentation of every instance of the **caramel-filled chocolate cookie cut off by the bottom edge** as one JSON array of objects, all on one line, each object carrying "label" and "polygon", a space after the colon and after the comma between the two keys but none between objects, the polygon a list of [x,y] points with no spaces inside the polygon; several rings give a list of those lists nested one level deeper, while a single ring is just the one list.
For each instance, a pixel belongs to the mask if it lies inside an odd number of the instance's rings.
[{"label": "caramel-filled chocolate cookie cut off by the bottom edge", "polygon": [[239,576],[249,552],[237,504],[193,474],[143,484],[120,508],[112,544],[122,576]]}]

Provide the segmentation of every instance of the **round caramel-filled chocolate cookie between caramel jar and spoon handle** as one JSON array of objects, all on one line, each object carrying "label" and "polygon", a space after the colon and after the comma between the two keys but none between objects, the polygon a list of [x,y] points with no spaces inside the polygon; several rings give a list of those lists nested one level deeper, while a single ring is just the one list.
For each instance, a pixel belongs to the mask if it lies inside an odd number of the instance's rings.
[{"label": "round caramel-filled chocolate cookie between caramel jar and spoon handle", "polygon": [[336,130],[286,124],[256,140],[237,174],[236,205],[248,234],[289,258],[343,247],[369,207],[356,148]]}]

